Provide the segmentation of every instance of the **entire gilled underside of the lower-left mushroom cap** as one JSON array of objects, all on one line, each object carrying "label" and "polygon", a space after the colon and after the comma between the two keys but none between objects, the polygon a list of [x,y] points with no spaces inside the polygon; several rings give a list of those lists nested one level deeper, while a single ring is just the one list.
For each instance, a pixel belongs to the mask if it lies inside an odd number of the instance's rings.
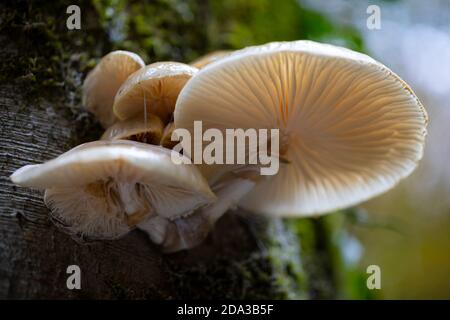
[{"label": "entire gilled underside of the lower-left mushroom cap", "polygon": [[100,240],[119,238],[152,217],[159,217],[158,221],[186,218],[204,199],[173,186],[151,188],[107,180],[84,189],[47,189],[44,202],[53,221],[74,238]]}]

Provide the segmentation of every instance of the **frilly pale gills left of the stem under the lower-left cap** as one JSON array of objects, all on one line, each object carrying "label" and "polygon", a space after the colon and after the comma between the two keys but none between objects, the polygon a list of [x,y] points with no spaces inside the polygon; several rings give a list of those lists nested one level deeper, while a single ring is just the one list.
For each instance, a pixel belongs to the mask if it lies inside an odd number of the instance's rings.
[{"label": "frilly pale gills left of the stem under the lower-left cap", "polygon": [[143,186],[96,181],[84,188],[49,188],[44,202],[53,222],[79,241],[117,239],[154,214]]}]

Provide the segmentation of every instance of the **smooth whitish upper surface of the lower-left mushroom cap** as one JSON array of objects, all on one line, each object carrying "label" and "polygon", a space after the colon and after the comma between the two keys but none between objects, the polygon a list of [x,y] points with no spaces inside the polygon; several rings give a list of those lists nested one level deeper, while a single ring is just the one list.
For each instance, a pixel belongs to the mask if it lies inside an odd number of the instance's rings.
[{"label": "smooth whitish upper surface of the lower-left mushroom cap", "polygon": [[173,163],[171,150],[128,140],[88,142],[11,175],[15,184],[38,189],[84,186],[107,178],[179,186],[214,198],[195,166]]}]

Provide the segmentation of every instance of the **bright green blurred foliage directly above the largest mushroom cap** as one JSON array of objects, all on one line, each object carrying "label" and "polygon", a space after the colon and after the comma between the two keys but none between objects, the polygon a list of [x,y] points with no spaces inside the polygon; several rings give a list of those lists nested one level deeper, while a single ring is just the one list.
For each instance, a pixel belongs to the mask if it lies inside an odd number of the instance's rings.
[{"label": "bright green blurred foliage directly above the largest mushroom cap", "polygon": [[220,1],[211,4],[210,42],[215,47],[233,49],[270,41],[310,39],[337,41],[362,50],[356,30],[333,25],[327,18],[298,1]]}]

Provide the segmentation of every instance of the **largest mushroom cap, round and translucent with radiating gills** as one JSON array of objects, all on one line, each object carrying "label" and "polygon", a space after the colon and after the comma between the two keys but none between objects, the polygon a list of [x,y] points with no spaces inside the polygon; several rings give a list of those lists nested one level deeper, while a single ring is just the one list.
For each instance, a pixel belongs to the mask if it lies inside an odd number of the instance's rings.
[{"label": "largest mushroom cap, round and translucent with radiating gills", "polygon": [[351,50],[311,41],[236,51],[181,91],[177,128],[279,129],[281,164],[241,205],[313,215],[392,188],[422,157],[427,115],[408,85]]}]

